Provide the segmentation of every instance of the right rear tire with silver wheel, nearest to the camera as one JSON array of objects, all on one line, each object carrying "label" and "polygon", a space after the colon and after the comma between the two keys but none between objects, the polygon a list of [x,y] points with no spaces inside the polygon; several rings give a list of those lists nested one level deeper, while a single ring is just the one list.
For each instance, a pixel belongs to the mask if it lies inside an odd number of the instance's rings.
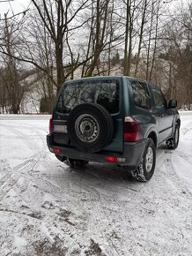
[{"label": "right rear tire with silver wheel, nearest to the camera", "polygon": [[136,170],[131,171],[134,179],[146,182],[151,179],[156,163],[156,148],[152,139],[148,139],[142,160]]}]

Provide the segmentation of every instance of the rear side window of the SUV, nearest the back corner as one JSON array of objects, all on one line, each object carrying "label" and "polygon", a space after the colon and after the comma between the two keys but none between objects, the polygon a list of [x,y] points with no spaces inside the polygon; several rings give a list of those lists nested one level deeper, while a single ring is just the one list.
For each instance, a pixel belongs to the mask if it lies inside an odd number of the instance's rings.
[{"label": "rear side window of the SUV, nearest the back corner", "polygon": [[151,109],[150,95],[145,83],[132,81],[133,98],[135,105],[143,109]]}]

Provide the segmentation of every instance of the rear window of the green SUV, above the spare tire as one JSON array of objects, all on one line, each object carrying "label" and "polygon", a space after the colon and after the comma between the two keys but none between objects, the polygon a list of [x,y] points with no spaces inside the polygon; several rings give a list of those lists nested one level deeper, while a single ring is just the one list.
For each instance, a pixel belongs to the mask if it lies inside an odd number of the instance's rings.
[{"label": "rear window of the green SUV, above the spare tire", "polygon": [[116,80],[92,80],[66,84],[57,103],[57,111],[69,113],[82,103],[95,102],[110,114],[119,112],[119,84]]}]

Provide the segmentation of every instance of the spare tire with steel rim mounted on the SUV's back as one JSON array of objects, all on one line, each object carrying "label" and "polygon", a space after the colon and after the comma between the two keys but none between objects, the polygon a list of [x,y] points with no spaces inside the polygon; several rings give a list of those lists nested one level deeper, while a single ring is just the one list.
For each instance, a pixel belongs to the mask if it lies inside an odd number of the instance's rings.
[{"label": "spare tire with steel rim mounted on the SUV's back", "polygon": [[111,141],[114,122],[103,106],[83,103],[70,111],[68,132],[71,143],[85,152],[98,152]]}]

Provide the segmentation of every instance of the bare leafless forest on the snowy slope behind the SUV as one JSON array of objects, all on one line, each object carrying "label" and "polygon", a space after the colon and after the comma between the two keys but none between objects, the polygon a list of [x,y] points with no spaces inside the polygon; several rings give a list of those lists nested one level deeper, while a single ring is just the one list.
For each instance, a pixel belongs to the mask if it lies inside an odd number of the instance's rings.
[{"label": "bare leafless forest on the snowy slope behind the SUV", "polygon": [[0,113],[51,113],[63,82],[98,75],[145,79],[192,109],[192,4],[32,0],[0,16]]}]

